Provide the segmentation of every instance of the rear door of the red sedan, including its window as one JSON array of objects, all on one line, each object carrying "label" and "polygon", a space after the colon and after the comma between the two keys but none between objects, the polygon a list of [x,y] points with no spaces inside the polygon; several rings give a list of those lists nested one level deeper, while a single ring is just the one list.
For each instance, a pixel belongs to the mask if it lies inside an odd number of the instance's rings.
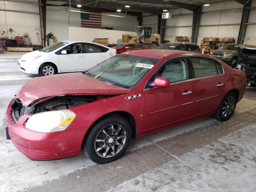
[{"label": "rear door of the red sedan, including its window", "polygon": [[216,112],[225,94],[226,76],[222,65],[206,57],[190,57],[194,71],[194,116]]}]

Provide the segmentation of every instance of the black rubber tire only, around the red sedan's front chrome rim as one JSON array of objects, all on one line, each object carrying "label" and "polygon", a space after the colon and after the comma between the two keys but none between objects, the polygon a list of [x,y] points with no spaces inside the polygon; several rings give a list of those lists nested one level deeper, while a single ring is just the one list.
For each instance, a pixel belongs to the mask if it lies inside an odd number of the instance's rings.
[{"label": "black rubber tire only, around the red sedan's front chrome rim", "polygon": [[[126,138],[125,138],[125,142],[122,143],[123,144],[122,148],[118,152],[116,150],[116,152],[115,152],[116,154],[112,153],[112,156],[102,157],[96,152],[96,149],[98,149],[97,146],[96,146],[96,138],[99,136],[99,133],[105,127],[107,127],[110,124],[119,124],[119,125],[121,125],[124,128],[125,132],[126,132]],[[131,133],[130,124],[128,123],[128,121],[120,115],[117,115],[117,114],[116,115],[110,115],[110,116],[107,116],[106,118],[100,120],[98,123],[96,123],[92,127],[90,133],[85,138],[85,141],[84,141],[84,144],[83,144],[83,150],[84,150],[84,153],[92,161],[94,161],[96,163],[100,163],[100,164],[109,163],[109,162],[112,162],[114,160],[117,160],[118,158],[120,158],[126,152],[128,146],[130,144],[131,136],[132,136],[132,133]],[[106,140],[106,142],[99,144],[99,148],[101,148],[104,144],[106,144],[109,141],[108,139],[105,139],[105,140]],[[108,144],[110,144],[110,142],[108,142]],[[116,145],[114,145],[114,146],[116,146]],[[116,147],[118,148],[119,146],[116,146]],[[104,152],[106,152],[105,148],[102,148],[102,150]],[[111,151],[112,151],[112,149],[111,149]],[[100,153],[100,151],[99,151],[99,153]]]}]

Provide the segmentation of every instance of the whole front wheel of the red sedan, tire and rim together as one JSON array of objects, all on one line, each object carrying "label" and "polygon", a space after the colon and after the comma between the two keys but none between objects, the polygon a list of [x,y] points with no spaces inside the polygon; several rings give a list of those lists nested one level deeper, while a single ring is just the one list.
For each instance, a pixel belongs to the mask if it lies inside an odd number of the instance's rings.
[{"label": "whole front wheel of the red sedan, tire and rim together", "polygon": [[[112,130],[114,130],[114,134],[112,134]],[[92,127],[85,138],[83,150],[92,161],[100,164],[109,163],[117,160],[125,153],[130,144],[131,136],[128,121],[120,115],[110,115]]]}]

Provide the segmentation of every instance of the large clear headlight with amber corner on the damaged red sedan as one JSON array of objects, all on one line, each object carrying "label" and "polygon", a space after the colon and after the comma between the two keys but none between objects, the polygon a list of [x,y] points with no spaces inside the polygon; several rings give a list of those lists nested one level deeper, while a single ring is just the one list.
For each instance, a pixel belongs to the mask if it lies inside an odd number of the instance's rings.
[{"label": "large clear headlight with amber corner on the damaged red sedan", "polygon": [[32,115],[25,124],[27,129],[36,132],[56,132],[65,130],[76,114],[69,110],[47,111]]}]

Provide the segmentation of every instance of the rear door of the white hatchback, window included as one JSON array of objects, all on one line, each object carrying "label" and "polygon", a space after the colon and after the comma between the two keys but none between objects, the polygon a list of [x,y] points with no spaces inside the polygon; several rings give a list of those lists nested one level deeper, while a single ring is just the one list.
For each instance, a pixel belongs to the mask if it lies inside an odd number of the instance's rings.
[{"label": "rear door of the white hatchback, window included", "polygon": [[106,60],[107,48],[96,44],[84,43],[84,50],[85,70],[88,70]]}]

